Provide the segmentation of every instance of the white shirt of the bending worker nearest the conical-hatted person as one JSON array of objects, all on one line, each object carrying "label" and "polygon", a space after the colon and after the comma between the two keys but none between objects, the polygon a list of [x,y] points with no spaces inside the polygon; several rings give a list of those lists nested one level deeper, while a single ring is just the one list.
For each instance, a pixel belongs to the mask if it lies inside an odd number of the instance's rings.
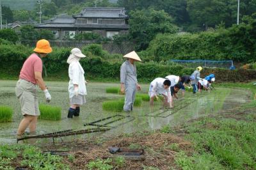
[{"label": "white shirt of the bending worker nearest the conical-hatted person", "polygon": [[150,97],[152,97],[154,95],[158,95],[158,94],[163,94],[168,97],[168,102],[170,102],[172,95],[171,95],[170,88],[164,89],[164,81],[165,80],[166,79],[159,77],[159,78],[154,79],[154,81],[152,81],[150,83],[150,88],[149,88],[149,92],[148,92]]}]

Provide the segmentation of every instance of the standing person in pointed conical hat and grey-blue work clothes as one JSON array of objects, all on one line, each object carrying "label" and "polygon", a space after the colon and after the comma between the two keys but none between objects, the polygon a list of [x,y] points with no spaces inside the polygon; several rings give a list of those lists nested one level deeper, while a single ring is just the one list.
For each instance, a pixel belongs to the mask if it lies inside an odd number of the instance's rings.
[{"label": "standing person in pointed conical hat and grey-blue work clothes", "polygon": [[141,90],[140,84],[137,81],[137,70],[135,61],[141,61],[135,51],[126,54],[124,58],[127,60],[122,64],[120,70],[121,93],[125,93],[124,111],[132,111],[135,101],[136,90]]}]

